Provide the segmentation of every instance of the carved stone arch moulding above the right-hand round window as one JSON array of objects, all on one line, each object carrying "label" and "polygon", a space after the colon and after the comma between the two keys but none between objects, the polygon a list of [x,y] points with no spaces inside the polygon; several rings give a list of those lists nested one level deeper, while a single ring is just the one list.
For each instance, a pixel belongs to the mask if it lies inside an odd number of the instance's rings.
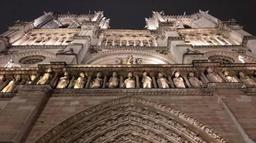
[{"label": "carved stone arch moulding above the right-hand round window", "polygon": [[210,56],[214,56],[214,55],[222,55],[222,56],[232,57],[237,62],[239,62],[238,56],[242,55],[246,59],[247,62],[256,62],[255,57],[248,56],[246,54],[238,54],[238,53],[228,52],[228,51],[211,51],[211,52],[204,53],[204,56],[206,56],[206,57],[210,57]]}]

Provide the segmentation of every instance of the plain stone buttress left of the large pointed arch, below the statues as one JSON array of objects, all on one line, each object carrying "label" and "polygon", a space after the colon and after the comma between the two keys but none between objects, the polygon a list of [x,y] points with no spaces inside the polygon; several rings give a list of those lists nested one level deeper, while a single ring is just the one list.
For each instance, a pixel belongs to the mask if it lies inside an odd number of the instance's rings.
[{"label": "plain stone buttress left of the large pointed arch, below the statues", "polygon": [[30,132],[39,110],[47,101],[49,85],[20,85],[18,92],[1,110],[0,142],[21,142]]}]

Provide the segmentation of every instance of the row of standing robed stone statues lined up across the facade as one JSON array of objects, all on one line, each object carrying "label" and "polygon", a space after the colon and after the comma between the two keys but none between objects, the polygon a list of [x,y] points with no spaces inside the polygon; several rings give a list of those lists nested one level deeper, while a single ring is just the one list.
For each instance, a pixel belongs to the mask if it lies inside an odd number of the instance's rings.
[{"label": "row of standing robed stone statues lined up across the facade", "polygon": [[[255,74],[255,73],[254,73]],[[195,76],[194,72],[189,72],[186,76],[182,76],[181,72],[176,71],[173,73],[172,77],[164,77],[164,74],[159,72],[155,77],[150,77],[148,72],[143,72],[140,80],[139,75],[134,76],[132,72],[128,72],[127,78],[121,79],[117,76],[116,72],[112,73],[112,76],[107,80],[105,76],[104,79],[100,72],[96,74],[95,78],[87,78],[87,74],[84,72],[79,73],[79,77],[76,79],[70,79],[67,71],[63,72],[63,76],[58,78],[56,82],[56,89],[83,89],[83,88],[204,88],[207,86],[208,82],[243,82],[246,87],[256,87],[256,78],[249,77],[243,72],[238,73],[238,77],[229,75],[229,72],[214,72],[213,67],[208,67],[206,69],[206,75],[201,73],[202,76]],[[256,75],[256,74],[255,74]],[[54,73],[52,69],[46,69],[46,73],[41,75],[39,79],[35,79],[35,75],[30,75],[30,81],[21,81],[21,75],[15,75],[11,81],[5,83],[5,76],[0,75],[0,85],[5,86],[1,89],[1,92],[11,92],[18,85],[22,84],[36,84],[36,85],[46,85],[49,84]],[[36,81],[34,81],[36,80]],[[32,82],[34,81],[34,82]],[[103,87],[105,82],[105,86]],[[87,86],[87,87],[85,87]]]}]

